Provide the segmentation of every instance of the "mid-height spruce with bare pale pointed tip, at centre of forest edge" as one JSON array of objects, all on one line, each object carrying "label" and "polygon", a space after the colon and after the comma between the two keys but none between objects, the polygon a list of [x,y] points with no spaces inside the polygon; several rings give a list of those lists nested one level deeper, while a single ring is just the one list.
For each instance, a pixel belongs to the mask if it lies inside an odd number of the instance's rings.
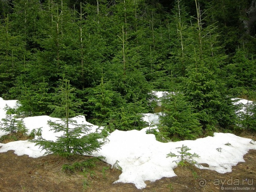
[{"label": "mid-height spruce with bare pale pointed tip, at centre of forest edge", "polygon": [[113,58],[111,71],[108,73],[109,77],[113,78],[116,90],[129,102],[133,99],[141,100],[152,97],[150,95],[151,87],[140,66],[141,56],[137,53],[136,48],[129,46],[124,26],[122,26],[122,33],[118,38],[120,39],[120,49]]}]

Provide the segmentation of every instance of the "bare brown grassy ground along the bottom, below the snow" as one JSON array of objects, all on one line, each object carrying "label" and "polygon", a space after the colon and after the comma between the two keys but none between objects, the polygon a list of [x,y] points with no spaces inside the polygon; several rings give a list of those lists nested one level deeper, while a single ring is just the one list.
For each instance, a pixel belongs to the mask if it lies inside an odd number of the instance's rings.
[{"label": "bare brown grassy ground along the bottom, below the snow", "polygon": [[[244,137],[256,140],[256,135]],[[87,173],[66,174],[60,171],[61,162],[56,156],[31,158],[8,151],[0,153],[0,192],[226,192],[232,190],[221,190],[221,183],[233,183],[236,187],[238,182],[240,187],[256,187],[256,150],[248,151],[244,160],[233,166],[232,172],[225,174],[194,166],[178,167],[174,170],[176,177],[148,181],[145,189],[137,189],[131,183],[113,184],[121,171],[112,170],[102,161],[96,162],[96,166]],[[256,188],[242,191],[255,192]]]}]

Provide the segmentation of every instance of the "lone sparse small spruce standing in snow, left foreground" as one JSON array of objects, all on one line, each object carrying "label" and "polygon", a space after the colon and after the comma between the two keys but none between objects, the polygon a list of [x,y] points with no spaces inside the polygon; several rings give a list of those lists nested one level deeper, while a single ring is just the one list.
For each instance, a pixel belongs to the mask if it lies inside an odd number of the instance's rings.
[{"label": "lone sparse small spruce standing in snow, left foreground", "polygon": [[[74,155],[92,155],[103,144],[98,141],[102,138],[101,135],[90,133],[90,125],[78,125],[75,120],[70,119],[76,115],[74,110],[81,106],[81,102],[73,101],[74,93],[72,92],[75,91],[75,88],[71,87],[69,80],[62,80],[59,90],[61,102],[51,107],[54,109],[53,114],[61,117],[61,120],[57,122],[48,121],[48,125],[52,128],[51,130],[61,132],[63,135],[58,137],[55,142],[42,137],[31,140],[31,142],[45,149],[45,154],[59,155],[68,159]],[[84,165],[88,164],[81,164],[81,166]],[[65,165],[63,168],[72,170],[74,166],[77,167],[76,164],[73,164],[71,167]]]}]

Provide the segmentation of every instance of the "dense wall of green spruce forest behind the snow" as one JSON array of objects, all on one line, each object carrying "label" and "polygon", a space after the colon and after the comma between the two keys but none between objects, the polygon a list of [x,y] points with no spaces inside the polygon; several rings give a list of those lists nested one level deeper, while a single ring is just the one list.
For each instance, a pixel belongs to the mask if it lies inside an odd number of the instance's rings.
[{"label": "dense wall of green spruce forest behind the snow", "polygon": [[[21,117],[64,118],[52,106],[68,81],[73,116],[109,132],[141,129],[149,112],[164,114],[160,138],[256,131],[256,113],[239,119],[233,105],[256,100],[255,4],[0,0],[0,97],[19,100]],[[160,109],[153,90],[169,92]]]}]

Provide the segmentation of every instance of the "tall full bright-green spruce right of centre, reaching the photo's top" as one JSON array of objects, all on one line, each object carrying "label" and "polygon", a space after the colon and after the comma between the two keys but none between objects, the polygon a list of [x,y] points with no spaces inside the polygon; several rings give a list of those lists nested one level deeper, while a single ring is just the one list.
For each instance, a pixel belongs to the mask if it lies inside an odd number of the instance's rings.
[{"label": "tall full bright-green spruce right of centre, reaching the photo's top", "polygon": [[213,25],[204,26],[199,4],[195,23],[189,27],[186,46],[186,74],[182,78],[183,93],[199,113],[204,130],[216,131],[234,124],[233,101],[227,96],[220,79],[220,63],[226,55],[218,46]]}]

